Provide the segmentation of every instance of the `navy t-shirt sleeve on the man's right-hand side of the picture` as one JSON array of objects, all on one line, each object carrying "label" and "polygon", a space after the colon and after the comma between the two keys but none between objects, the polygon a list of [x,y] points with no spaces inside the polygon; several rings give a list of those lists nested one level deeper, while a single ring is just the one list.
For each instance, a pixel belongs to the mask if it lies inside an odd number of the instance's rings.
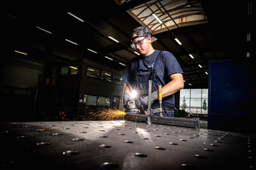
[{"label": "navy t-shirt sleeve on the man's right-hand side of the picture", "polygon": [[180,65],[177,62],[177,59],[174,55],[170,52],[163,52],[163,59],[165,63],[165,69],[168,75],[172,75],[174,73],[181,73],[183,74],[183,70],[181,69]]}]

